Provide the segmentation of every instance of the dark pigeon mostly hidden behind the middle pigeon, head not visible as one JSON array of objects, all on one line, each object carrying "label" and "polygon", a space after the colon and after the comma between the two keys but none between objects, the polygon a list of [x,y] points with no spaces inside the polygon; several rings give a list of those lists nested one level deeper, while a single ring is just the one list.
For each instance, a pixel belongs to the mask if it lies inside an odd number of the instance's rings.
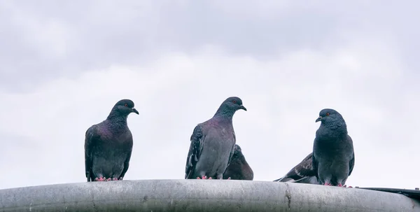
[{"label": "dark pigeon mostly hidden behind the middle pigeon, head not visible", "polygon": [[235,152],[233,153],[232,160],[230,160],[230,164],[223,174],[223,179],[228,178],[243,181],[253,180],[253,171],[249,167],[248,162],[246,162],[241,147],[237,144],[235,144]]}]

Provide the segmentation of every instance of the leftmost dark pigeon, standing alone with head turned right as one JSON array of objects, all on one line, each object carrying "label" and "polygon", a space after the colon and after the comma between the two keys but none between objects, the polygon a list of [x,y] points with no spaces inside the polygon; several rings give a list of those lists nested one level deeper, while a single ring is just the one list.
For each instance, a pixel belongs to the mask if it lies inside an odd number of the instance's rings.
[{"label": "leftmost dark pigeon, standing alone with head turned right", "polygon": [[108,118],[92,125],[85,134],[85,172],[87,182],[123,180],[132,155],[133,137],[127,116],[139,111],[134,102],[123,99],[113,106]]}]

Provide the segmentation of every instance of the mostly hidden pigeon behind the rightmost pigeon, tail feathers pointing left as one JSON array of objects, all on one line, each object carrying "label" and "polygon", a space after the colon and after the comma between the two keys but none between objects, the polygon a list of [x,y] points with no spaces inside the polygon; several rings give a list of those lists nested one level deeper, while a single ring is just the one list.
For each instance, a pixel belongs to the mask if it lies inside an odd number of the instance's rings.
[{"label": "mostly hidden pigeon behind the rightmost pigeon, tail feathers pointing left", "polygon": [[312,153],[293,167],[285,176],[276,179],[274,182],[318,184],[314,168],[312,167]]}]

